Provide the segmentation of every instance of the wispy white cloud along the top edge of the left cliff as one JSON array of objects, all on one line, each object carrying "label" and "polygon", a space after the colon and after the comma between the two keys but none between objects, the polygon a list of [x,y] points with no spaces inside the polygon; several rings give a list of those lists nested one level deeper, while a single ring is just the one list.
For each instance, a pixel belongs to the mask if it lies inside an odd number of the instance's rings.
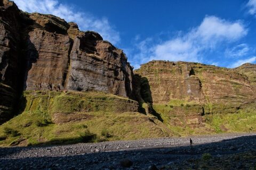
[{"label": "wispy white cloud along the top edge of the left cliff", "polygon": [[22,11],[56,15],[67,22],[76,22],[81,30],[99,32],[103,39],[113,44],[120,41],[119,32],[110,25],[106,18],[98,19],[88,13],[77,12],[72,6],[61,4],[57,0],[14,0],[14,2]]}]

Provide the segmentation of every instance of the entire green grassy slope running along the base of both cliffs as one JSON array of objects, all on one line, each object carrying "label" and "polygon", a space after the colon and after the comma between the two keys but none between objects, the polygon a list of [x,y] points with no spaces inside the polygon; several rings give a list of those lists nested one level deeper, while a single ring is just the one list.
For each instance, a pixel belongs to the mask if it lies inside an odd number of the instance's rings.
[{"label": "entire green grassy slope running along the base of both cliffs", "polygon": [[197,103],[172,100],[153,106],[161,122],[138,113],[137,101],[103,92],[25,91],[21,101],[21,114],[0,126],[0,146],[256,131],[253,107],[202,116]]}]

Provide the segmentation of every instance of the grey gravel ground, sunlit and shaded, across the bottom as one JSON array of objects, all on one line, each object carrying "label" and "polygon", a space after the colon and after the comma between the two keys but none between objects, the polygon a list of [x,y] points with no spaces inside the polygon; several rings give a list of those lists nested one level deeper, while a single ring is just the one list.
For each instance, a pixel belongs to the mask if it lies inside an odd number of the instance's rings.
[{"label": "grey gravel ground, sunlit and shaded, across the bottom", "polygon": [[216,164],[234,158],[230,169],[256,168],[254,158],[242,159],[255,155],[256,133],[0,148],[0,169],[198,169],[204,153]]}]

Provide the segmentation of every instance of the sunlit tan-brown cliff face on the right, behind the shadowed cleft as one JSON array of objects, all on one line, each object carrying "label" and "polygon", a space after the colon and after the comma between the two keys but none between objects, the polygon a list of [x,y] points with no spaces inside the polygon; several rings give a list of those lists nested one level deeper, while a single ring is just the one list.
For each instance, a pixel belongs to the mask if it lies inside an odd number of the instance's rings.
[{"label": "sunlit tan-brown cliff face on the right, behind the shadowed cleft", "polygon": [[[243,70],[243,73],[251,74]],[[242,71],[241,71],[242,72]],[[188,62],[152,61],[134,71],[148,81],[143,98],[170,124],[203,126],[204,114],[236,113],[255,105],[255,85],[236,70]],[[149,98],[149,99],[148,99]],[[151,98],[151,101],[150,101]],[[142,101],[143,102],[143,101]],[[179,121],[175,121],[179,117]]]}]

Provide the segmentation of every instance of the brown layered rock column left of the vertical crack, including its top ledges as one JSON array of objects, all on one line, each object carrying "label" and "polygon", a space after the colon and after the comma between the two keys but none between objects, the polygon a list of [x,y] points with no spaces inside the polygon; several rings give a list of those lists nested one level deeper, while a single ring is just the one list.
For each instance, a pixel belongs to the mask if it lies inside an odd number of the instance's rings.
[{"label": "brown layered rock column left of the vertical crack, including its top ledges", "polygon": [[[29,26],[33,29],[26,37],[24,89],[62,90],[65,85],[72,44],[67,35],[69,25],[51,15],[31,14],[28,16],[33,23]],[[60,22],[55,22],[54,19]],[[36,27],[37,24],[39,27]]]}]

